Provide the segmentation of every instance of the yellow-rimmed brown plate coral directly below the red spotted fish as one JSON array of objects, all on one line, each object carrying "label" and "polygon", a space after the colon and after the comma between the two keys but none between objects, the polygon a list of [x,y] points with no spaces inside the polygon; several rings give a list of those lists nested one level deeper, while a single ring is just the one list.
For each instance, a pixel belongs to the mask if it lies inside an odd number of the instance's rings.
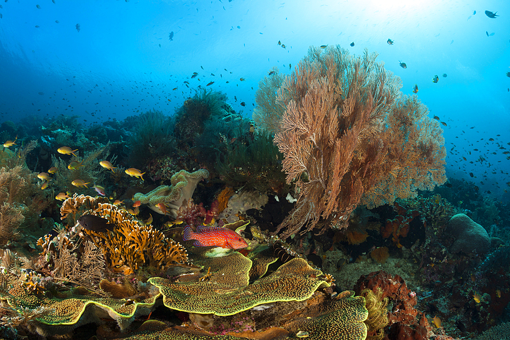
[{"label": "yellow-rimmed brown plate coral directly below the red spotted fish", "polygon": [[208,280],[171,282],[160,277],[149,279],[163,294],[171,309],[229,316],[254,306],[276,301],[303,301],[320,286],[329,286],[319,270],[302,258],[294,258],[275,272],[249,284],[251,260],[238,252],[204,258],[194,263],[213,273]]}]

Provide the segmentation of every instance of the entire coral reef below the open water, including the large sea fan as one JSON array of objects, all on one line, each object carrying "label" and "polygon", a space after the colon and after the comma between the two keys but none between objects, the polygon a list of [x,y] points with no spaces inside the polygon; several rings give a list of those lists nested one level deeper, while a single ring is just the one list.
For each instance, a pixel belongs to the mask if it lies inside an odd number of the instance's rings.
[{"label": "entire coral reef below the open water, including the large sea fan", "polygon": [[[376,57],[311,47],[267,73],[253,120],[202,87],[173,116],[55,118],[37,142],[4,123],[20,133],[0,153],[0,337],[488,329],[510,301],[506,233],[481,225],[500,203],[442,186],[439,122]],[[463,195],[476,214],[449,202]]]}]

